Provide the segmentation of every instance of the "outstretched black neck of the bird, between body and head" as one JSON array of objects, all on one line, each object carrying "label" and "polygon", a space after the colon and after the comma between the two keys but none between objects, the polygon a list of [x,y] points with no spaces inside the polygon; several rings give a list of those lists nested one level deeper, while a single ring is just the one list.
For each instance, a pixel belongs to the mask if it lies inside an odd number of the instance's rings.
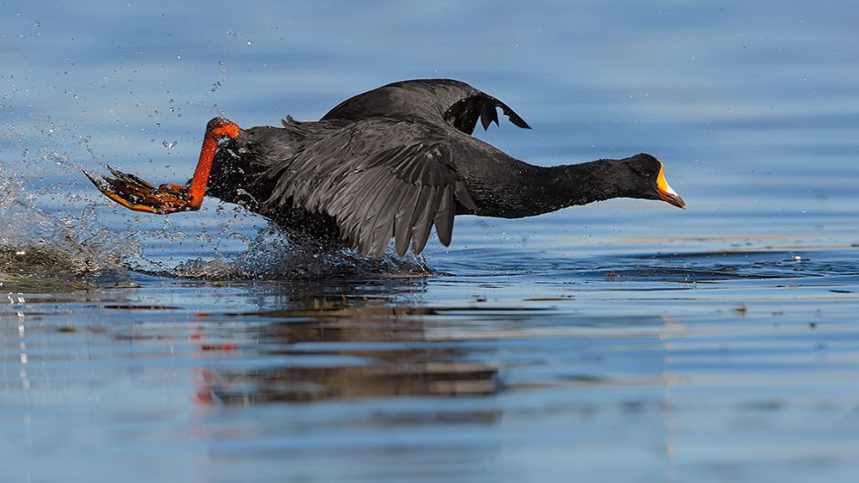
[{"label": "outstretched black neck of the bird, between body and head", "polygon": [[528,188],[521,192],[525,195],[520,203],[524,209],[517,215],[542,215],[567,206],[627,196],[630,189],[620,181],[625,179],[620,175],[622,169],[617,160],[531,166],[529,173],[523,173],[522,185]]}]

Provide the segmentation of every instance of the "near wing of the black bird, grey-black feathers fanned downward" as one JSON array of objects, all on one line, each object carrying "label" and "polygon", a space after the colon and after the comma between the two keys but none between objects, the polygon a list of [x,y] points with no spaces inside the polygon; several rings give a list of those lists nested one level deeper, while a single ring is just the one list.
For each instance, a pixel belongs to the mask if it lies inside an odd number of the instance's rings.
[{"label": "near wing of the black bird, grey-black feathers fanned downward", "polygon": [[447,246],[456,202],[475,209],[454,170],[451,142],[443,128],[428,124],[358,121],[271,168],[268,203],[333,216],[361,254],[381,255],[391,237],[398,254],[409,244],[419,254],[433,225]]}]

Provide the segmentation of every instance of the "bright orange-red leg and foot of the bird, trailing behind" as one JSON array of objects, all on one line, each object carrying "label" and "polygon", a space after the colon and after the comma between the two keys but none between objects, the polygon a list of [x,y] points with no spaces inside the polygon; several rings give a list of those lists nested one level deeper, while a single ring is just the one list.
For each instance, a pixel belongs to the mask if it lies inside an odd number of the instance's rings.
[{"label": "bright orange-red leg and foot of the bird, trailing behind", "polygon": [[212,163],[215,161],[217,141],[224,138],[236,139],[241,130],[234,122],[224,118],[208,121],[206,134],[203,136],[203,147],[200,149],[200,159],[196,163],[191,184],[162,184],[157,189],[152,184],[134,176],[111,169],[114,178],[91,176],[84,172],[92,184],[95,184],[102,194],[134,211],[164,215],[177,211],[200,209],[203,196],[206,194],[206,184]]}]

